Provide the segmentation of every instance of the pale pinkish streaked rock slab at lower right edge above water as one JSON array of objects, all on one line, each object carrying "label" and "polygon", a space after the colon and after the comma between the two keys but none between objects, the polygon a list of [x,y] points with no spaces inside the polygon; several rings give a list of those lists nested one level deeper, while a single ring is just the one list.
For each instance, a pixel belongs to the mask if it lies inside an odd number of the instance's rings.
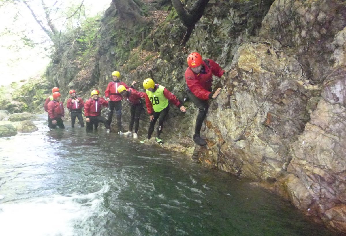
[{"label": "pale pinkish streaked rock slab at lower right edge above water", "polygon": [[287,171],[302,186],[290,190],[296,205],[345,228],[342,215],[332,212],[346,209],[346,108],[321,100],[291,147],[293,158]]}]

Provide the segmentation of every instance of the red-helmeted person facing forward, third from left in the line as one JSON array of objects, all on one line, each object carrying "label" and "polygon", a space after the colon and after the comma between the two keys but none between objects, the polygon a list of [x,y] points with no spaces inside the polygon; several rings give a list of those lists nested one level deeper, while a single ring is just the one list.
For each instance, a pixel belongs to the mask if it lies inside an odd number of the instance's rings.
[{"label": "red-helmeted person facing forward, third from left in the line", "polygon": [[67,109],[71,112],[71,127],[74,127],[76,117],[79,120],[81,127],[84,127],[84,121],[82,116],[82,108],[84,107],[84,101],[81,97],[77,97],[76,91],[74,89],[70,90],[70,98],[67,100]]}]

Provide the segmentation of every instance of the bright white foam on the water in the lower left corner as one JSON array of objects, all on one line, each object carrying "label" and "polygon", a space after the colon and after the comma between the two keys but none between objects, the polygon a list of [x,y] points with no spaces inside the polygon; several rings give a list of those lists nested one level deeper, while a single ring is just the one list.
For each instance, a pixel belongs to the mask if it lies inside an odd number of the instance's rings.
[{"label": "bright white foam on the water in the lower left corner", "polygon": [[[0,204],[0,235],[74,235],[91,217],[106,214],[102,194],[51,195]],[[84,234],[86,235],[86,234]]]}]

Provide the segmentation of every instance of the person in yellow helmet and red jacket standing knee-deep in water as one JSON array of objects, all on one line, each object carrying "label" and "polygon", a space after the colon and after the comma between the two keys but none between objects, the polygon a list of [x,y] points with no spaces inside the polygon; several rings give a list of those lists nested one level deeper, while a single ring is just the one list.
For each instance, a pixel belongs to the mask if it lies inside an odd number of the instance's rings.
[{"label": "person in yellow helmet and red jacket standing knee-deep in water", "polygon": [[86,131],[91,131],[95,122],[101,122],[106,129],[110,129],[108,122],[101,116],[101,106],[107,107],[108,101],[99,98],[96,90],[91,91],[91,98],[84,104],[84,115],[86,117]]}]

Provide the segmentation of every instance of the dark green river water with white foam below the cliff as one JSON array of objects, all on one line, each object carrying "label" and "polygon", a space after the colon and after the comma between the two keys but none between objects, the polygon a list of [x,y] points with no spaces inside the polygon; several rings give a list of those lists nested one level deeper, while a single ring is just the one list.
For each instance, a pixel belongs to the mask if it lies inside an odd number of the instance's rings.
[{"label": "dark green river water with white foam below the cliff", "polygon": [[288,201],[179,153],[106,135],[0,138],[0,235],[335,235]]}]

